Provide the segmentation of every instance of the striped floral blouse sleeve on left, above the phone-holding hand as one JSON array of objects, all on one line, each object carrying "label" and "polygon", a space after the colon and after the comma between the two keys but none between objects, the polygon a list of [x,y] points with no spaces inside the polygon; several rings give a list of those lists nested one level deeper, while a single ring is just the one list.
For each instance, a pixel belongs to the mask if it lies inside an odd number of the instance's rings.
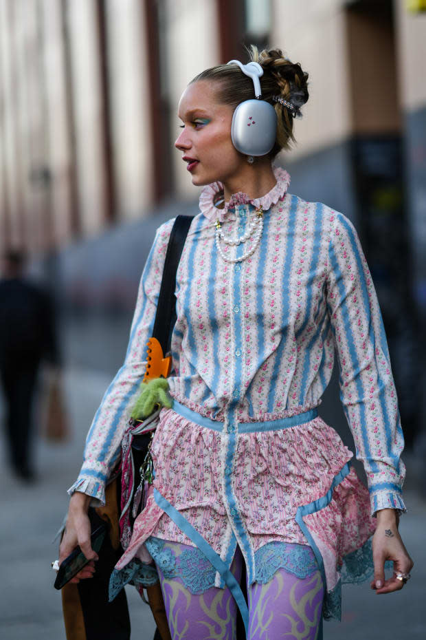
[{"label": "striped floral blouse sleeve on left, above the phone-holding hand", "polygon": [[105,502],[106,480],[121,454],[121,441],[146,369],[146,343],[150,338],[173,220],[161,225],[139,283],[130,339],[124,364],[106,390],[86,438],[80,474],[68,489]]}]

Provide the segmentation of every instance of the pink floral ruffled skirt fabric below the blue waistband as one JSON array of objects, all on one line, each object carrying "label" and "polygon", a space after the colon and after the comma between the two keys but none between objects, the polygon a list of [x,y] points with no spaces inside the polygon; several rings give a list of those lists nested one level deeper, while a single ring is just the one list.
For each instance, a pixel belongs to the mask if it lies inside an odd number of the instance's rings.
[{"label": "pink floral ruffled skirt fabric below the blue waistband", "polygon": [[[151,446],[153,487],[216,553],[232,560],[232,526],[223,497],[224,437],[172,409],[163,409]],[[322,498],[351,457],[336,431],[321,418],[279,431],[238,434],[233,490],[254,554],[272,542],[309,544],[295,522],[298,507]],[[353,469],[335,488],[330,504],[304,521],[322,553],[327,588],[333,590],[344,557],[363,546],[375,529],[368,491]],[[149,562],[144,542],[151,535],[193,544],[159,509],[152,491],[117,569],[134,557]]]}]

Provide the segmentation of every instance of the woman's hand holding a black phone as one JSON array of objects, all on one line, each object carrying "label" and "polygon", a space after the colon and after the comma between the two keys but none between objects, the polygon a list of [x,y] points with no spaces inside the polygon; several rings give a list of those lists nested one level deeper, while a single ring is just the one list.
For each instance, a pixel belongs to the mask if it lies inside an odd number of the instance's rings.
[{"label": "woman's hand holding a black phone", "polygon": [[59,545],[59,564],[74,551],[76,546],[80,546],[87,559],[91,560],[69,581],[73,584],[77,584],[82,579],[93,577],[93,573],[95,573],[94,561],[98,560],[98,555],[91,548],[90,542],[91,526],[87,515],[90,500],[90,495],[79,493],[78,491],[71,495],[67,524],[65,525],[63,539]]}]

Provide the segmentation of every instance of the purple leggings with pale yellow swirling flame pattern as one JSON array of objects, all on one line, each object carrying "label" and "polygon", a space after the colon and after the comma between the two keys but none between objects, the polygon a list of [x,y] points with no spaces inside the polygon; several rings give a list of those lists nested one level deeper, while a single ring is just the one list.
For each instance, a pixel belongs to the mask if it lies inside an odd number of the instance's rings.
[{"label": "purple leggings with pale yellow swirling flame pattern", "polygon": [[[166,542],[178,553],[186,547]],[[231,570],[239,581],[243,556],[237,548]],[[172,640],[235,640],[236,603],[228,588],[191,593],[179,577],[166,579],[157,565]],[[320,571],[298,578],[278,569],[266,584],[247,587],[247,640],[315,640],[320,637],[324,586]]]}]

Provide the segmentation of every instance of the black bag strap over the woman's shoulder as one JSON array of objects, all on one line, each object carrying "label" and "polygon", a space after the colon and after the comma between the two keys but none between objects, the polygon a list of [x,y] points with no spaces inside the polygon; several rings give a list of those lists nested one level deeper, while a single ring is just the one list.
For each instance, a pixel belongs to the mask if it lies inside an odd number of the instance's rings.
[{"label": "black bag strap over the woman's shoulder", "polygon": [[176,273],[192,220],[192,215],[177,215],[168,241],[153,328],[153,338],[161,344],[164,355],[170,351],[172,328],[176,322]]}]

